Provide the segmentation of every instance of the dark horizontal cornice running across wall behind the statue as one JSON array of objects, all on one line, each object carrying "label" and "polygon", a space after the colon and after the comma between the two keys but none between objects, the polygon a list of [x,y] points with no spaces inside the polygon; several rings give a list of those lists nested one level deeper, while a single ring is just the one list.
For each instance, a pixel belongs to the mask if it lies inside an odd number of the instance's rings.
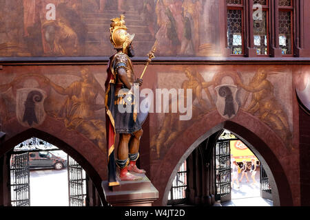
[{"label": "dark horizontal cornice running across wall behind the statue", "polygon": [[[132,58],[135,64],[146,63],[146,57]],[[107,65],[109,58],[101,57],[10,57],[0,58],[1,65]],[[257,65],[257,64],[310,64],[310,57],[297,58],[293,56],[273,58],[273,57],[176,57],[161,56],[156,57],[151,65]]]}]

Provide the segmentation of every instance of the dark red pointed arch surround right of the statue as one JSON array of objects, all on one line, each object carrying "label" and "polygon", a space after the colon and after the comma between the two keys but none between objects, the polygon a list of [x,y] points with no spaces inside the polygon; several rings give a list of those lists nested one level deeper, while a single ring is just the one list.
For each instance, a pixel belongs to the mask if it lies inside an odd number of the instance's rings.
[{"label": "dark red pointed arch surround right of the statue", "polygon": [[[206,121],[213,121],[207,124]],[[194,129],[195,128],[195,129]],[[271,188],[273,188],[274,206],[293,206],[293,195],[287,173],[282,167],[280,160],[274,153],[277,148],[285,148],[282,140],[266,125],[249,113],[240,111],[231,121],[225,121],[220,118],[216,112],[209,113],[191,127],[169,148],[165,157],[161,160],[158,173],[154,175],[152,183],[160,192],[160,199],[156,205],[166,206],[169,190],[172,187],[172,181],[180,165],[194,151],[194,149],[207,137],[227,129],[240,137],[253,151],[262,165],[266,167],[267,175],[270,177]],[[192,133],[192,131],[197,131]],[[268,135],[267,135],[268,134]],[[165,168],[165,170],[163,170]]]}]

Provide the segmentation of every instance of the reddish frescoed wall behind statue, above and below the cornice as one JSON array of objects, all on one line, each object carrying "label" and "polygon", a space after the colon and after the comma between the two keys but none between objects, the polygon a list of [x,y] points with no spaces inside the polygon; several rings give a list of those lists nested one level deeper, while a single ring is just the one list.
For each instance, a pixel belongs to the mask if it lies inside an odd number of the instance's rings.
[{"label": "reddish frescoed wall behind statue, above and below the cornice", "polygon": [[[310,1],[302,2],[304,10],[310,8]],[[298,103],[309,107],[310,41],[304,40],[309,15],[301,13],[304,27],[296,25],[293,33],[304,41],[301,55],[294,54],[299,58],[227,57],[226,10],[224,0],[1,0],[0,130],[6,137],[0,156],[15,137],[37,131],[79,153],[101,186],[107,179],[106,61],[115,52],[110,19],[125,14],[128,32],[136,34],[136,56],[146,57],[157,45],[158,59],[149,65],[141,89],[152,89],[154,97],[156,89],[192,91],[170,97],[163,106],[170,111],[149,113],[143,124],[138,161],[159,190],[155,204],[165,205],[167,182],[189,149],[219,124],[231,123],[239,127],[225,129],[251,140],[279,189],[288,186],[280,200],[299,206],[300,185],[309,188],[307,175],[300,175],[307,172],[302,163],[308,161],[309,115],[298,109]],[[101,61],[92,59],[96,56]],[[137,58],[136,77],[143,68]],[[180,100],[192,109],[189,120],[180,120],[186,113],[171,111]],[[262,146],[255,146],[256,140]]]}]

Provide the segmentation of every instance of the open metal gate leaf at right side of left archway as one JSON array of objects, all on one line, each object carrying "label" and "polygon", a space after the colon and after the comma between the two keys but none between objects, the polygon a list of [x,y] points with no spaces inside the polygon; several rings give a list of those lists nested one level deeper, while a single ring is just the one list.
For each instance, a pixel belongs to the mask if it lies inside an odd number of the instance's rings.
[{"label": "open metal gate leaf at right side of left archway", "polygon": [[87,206],[85,170],[68,155],[69,206]]}]

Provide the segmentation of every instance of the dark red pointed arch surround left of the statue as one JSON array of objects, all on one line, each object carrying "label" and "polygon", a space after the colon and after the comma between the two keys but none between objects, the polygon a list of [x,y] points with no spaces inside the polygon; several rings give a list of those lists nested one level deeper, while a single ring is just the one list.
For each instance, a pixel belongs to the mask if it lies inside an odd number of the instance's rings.
[{"label": "dark red pointed arch surround left of the statue", "polygon": [[62,122],[50,117],[46,118],[39,128],[25,128],[19,125],[15,118],[3,126],[3,131],[6,131],[7,135],[1,143],[0,156],[31,137],[38,137],[49,142],[70,155],[83,167],[92,179],[101,202],[103,205],[107,205],[101,188],[101,181],[106,178],[106,153],[86,137],[75,131],[68,131]]}]

